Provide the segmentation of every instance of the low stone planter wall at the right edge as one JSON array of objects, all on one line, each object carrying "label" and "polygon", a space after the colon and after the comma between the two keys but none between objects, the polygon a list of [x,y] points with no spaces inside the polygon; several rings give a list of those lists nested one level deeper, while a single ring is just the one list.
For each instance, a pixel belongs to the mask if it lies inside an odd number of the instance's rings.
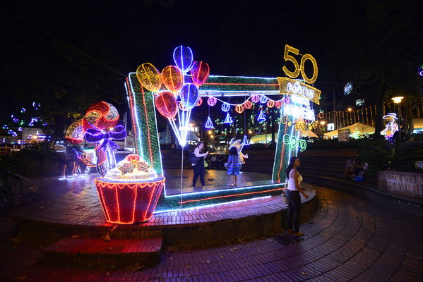
[{"label": "low stone planter wall at the right edge", "polygon": [[423,198],[423,173],[379,171],[378,189],[395,195]]}]

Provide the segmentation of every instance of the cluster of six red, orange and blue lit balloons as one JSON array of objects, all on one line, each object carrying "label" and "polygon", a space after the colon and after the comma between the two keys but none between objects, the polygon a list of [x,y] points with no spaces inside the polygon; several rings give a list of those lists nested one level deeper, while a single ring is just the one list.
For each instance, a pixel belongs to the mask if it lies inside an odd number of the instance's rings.
[{"label": "cluster of six red, orange and blue lit balloons", "polygon": [[[200,104],[198,88],[207,81],[210,73],[207,63],[193,61],[189,47],[175,48],[173,60],[176,66],[166,66],[162,73],[151,63],[143,63],[136,70],[141,85],[156,94],[157,110],[170,119],[177,115],[179,109],[187,111]],[[179,107],[178,102],[181,104]]]}]

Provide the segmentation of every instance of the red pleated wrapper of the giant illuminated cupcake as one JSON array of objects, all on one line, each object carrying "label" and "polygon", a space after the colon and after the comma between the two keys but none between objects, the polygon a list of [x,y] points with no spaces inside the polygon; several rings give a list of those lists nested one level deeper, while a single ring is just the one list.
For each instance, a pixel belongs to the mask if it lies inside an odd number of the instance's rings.
[{"label": "red pleated wrapper of the giant illuminated cupcake", "polygon": [[164,184],[163,176],[145,182],[95,178],[106,221],[119,224],[148,221],[153,216]]}]

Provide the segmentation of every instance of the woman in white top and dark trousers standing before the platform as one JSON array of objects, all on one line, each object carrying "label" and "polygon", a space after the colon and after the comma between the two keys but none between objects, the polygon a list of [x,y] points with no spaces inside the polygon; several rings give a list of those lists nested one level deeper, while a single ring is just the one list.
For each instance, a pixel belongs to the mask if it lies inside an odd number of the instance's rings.
[{"label": "woman in white top and dark trousers standing before the platform", "polygon": [[[288,187],[285,190],[285,194],[289,200],[288,203],[288,233],[294,233],[296,236],[302,236],[304,233],[299,232],[299,214],[301,212],[301,197],[299,193],[302,193],[304,197],[308,198],[309,195],[304,192],[304,189],[299,185],[302,181],[302,176],[297,171],[297,168],[301,166],[301,162],[297,157],[291,157],[290,164],[286,169]],[[294,229],[292,229],[292,218],[294,218]]]}]

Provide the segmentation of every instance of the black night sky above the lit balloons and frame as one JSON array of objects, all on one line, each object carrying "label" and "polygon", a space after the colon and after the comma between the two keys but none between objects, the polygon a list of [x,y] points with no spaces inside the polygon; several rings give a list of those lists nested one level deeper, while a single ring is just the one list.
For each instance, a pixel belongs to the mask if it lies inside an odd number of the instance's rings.
[{"label": "black night sky above the lit balloons and frame", "polygon": [[[70,107],[81,105],[76,111],[99,99],[125,110],[124,76],[141,63],[153,63],[159,70],[172,64],[172,51],[179,45],[191,47],[194,59],[207,62],[214,75],[276,77],[284,76],[283,51],[289,44],[316,58],[315,86],[323,96],[332,90],[341,92],[347,79],[338,70],[348,66],[341,66],[340,54],[349,56],[347,42],[367,31],[371,8],[366,2],[371,1],[339,2],[343,1],[8,4],[1,8],[0,17],[0,91],[7,100],[1,103],[1,118],[30,99],[49,107],[49,95],[60,91],[66,93]],[[383,3],[398,6],[400,2]],[[404,3],[401,6],[407,9]],[[417,1],[410,1],[410,11],[398,12],[410,15],[405,30],[422,23],[416,5]],[[378,17],[392,19],[389,13]],[[386,42],[398,40],[395,34],[389,36],[384,37]],[[421,46],[422,38],[415,33],[410,37],[405,45]],[[376,45],[370,51],[378,51],[380,44]],[[369,49],[372,46],[369,42]]]}]

